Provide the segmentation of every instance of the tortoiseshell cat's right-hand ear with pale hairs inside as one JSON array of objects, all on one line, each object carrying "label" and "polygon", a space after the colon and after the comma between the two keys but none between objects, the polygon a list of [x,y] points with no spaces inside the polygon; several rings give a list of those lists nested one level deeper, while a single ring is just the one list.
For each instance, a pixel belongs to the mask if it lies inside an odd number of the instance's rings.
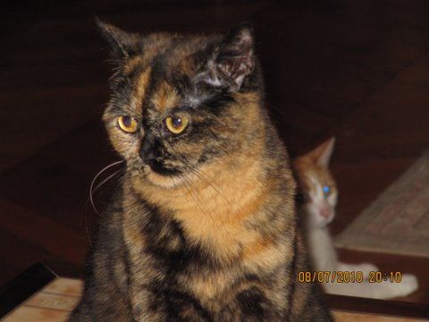
[{"label": "tortoiseshell cat's right-hand ear with pale hairs inside", "polygon": [[209,60],[204,80],[215,87],[231,91],[241,88],[255,68],[255,40],[248,24],[241,24],[223,38]]}]

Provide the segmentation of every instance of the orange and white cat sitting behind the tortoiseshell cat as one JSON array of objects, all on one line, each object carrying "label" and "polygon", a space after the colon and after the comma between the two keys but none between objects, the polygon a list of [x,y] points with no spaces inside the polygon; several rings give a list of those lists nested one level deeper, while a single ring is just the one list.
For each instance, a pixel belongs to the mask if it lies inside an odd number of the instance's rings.
[{"label": "orange and white cat sitting behind the tortoiseshell cat", "polygon": [[373,264],[346,264],[338,260],[328,229],[335,216],[338,199],[337,186],[328,168],[334,143],[334,138],[326,140],[294,162],[303,197],[300,212],[306,225],[307,246],[316,271],[361,271],[366,279],[363,283],[324,283],[325,292],[390,299],[416,291],[418,283],[415,275],[403,275],[400,283],[369,283],[369,272],[379,270]]}]

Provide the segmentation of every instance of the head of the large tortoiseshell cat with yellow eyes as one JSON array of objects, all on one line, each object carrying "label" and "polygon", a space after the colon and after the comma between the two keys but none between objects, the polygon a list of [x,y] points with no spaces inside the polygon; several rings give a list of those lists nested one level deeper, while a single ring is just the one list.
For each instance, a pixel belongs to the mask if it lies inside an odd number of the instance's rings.
[{"label": "head of the large tortoiseshell cat with yellow eyes", "polygon": [[115,64],[105,126],[132,174],[170,188],[255,144],[262,83],[248,26],[184,36],[98,24]]}]

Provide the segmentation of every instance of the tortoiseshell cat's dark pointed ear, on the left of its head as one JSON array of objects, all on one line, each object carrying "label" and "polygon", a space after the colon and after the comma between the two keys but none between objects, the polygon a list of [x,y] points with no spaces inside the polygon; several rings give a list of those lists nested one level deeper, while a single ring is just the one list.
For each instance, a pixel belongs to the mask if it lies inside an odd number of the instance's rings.
[{"label": "tortoiseshell cat's dark pointed ear, on the left of its head", "polygon": [[101,36],[105,39],[110,49],[110,54],[116,63],[122,64],[139,49],[141,44],[141,36],[139,34],[123,31],[98,18],[96,18],[96,22]]}]

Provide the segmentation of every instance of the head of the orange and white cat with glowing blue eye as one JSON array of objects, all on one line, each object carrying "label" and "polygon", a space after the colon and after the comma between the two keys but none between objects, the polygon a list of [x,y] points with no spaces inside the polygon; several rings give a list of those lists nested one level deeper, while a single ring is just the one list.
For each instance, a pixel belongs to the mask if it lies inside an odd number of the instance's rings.
[{"label": "head of the orange and white cat with glowing blue eye", "polygon": [[303,194],[303,207],[310,226],[324,227],[335,216],[338,191],[328,167],[334,143],[334,138],[326,140],[294,162],[299,193]]}]

